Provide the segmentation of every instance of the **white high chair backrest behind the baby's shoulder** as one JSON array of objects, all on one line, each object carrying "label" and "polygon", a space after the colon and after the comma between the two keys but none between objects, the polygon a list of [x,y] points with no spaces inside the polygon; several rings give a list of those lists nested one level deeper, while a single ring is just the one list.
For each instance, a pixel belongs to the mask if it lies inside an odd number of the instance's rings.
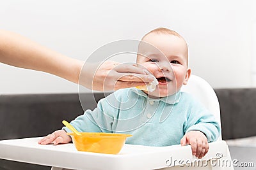
[{"label": "white high chair backrest behind the baby's shoulder", "polygon": [[[183,85],[181,91],[188,92],[198,99],[204,106],[211,111],[216,120],[220,122],[220,104],[211,85],[199,76],[191,74],[188,84]],[[221,134],[220,138],[221,140]]]}]

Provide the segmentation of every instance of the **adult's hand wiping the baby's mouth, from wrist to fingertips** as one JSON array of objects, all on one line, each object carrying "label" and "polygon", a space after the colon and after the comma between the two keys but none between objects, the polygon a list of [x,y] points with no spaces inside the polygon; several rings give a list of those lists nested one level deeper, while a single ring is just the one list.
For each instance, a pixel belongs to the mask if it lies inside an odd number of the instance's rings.
[{"label": "adult's hand wiping the baby's mouth, from wrist to fingertips", "polygon": [[80,85],[100,91],[136,87],[151,81],[152,76],[140,67],[111,60],[102,64],[85,63],[79,78]]}]

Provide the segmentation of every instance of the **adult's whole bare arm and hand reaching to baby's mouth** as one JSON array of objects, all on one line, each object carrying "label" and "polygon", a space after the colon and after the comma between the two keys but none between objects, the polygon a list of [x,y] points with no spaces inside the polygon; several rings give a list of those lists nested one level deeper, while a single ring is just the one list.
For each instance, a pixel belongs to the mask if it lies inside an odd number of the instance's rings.
[{"label": "adult's whole bare arm and hand reaching to baby's mouth", "polygon": [[[44,71],[93,90],[117,90],[152,81],[142,69],[114,61],[86,63],[45,48],[14,32],[0,30],[0,62],[11,66]],[[81,70],[84,66],[84,71]],[[81,79],[79,76],[81,73]]]}]

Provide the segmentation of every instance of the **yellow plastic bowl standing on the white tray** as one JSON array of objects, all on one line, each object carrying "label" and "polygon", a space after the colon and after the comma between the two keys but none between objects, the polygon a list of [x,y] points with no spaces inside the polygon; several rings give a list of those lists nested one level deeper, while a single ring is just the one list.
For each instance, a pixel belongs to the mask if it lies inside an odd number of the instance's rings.
[{"label": "yellow plastic bowl standing on the white tray", "polygon": [[82,135],[67,133],[72,137],[76,149],[84,152],[116,154],[124,146],[131,134],[112,134],[103,132],[80,132]]}]

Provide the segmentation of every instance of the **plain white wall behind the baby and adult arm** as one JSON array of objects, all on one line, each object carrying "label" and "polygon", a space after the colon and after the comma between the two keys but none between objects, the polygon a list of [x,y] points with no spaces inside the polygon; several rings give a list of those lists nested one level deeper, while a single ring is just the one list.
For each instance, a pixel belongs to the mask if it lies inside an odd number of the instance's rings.
[{"label": "plain white wall behind the baby and adult arm", "polygon": [[[193,74],[214,88],[252,86],[253,0],[1,0],[0,4],[1,29],[82,60],[110,41],[140,39],[156,27],[168,27],[188,42]],[[0,64],[0,94],[77,91],[76,84],[56,76]]]}]

